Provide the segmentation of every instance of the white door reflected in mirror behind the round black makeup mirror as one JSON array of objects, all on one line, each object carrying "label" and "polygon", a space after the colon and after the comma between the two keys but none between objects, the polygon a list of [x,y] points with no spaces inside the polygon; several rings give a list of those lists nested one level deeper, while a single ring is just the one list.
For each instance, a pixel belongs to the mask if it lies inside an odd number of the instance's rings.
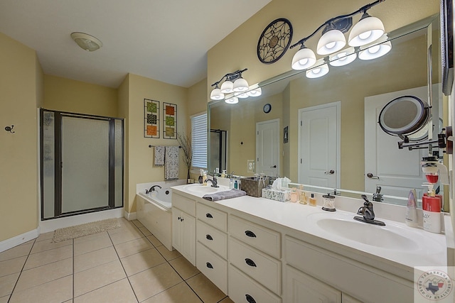
[{"label": "white door reflected in mirror behind the round black makeup mirror", "polygon": [[[417,197],[422,197],[422,182],[426,180],[420,161],[422,156],[428,155],[428,150],[400,150],[398,141],[402,140],[385,133],[378,124],[380,111],[385,104],[406,95],[428,100],[427,87],[365,97],[365,192],[373,193],[380,186],[382,194],[407,197],[410,189],[416,189]],[[368,174],[373,177],[368,177]]]}]

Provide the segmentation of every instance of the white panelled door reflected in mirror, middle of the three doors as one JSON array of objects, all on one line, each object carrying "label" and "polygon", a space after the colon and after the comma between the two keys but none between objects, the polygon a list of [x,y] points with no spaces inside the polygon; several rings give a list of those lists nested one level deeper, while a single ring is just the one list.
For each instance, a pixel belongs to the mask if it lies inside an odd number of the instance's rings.
[{"label": "white panelled door reflected in mirror, middle of the three doors", "polygon": [[299,110],[299,183],[339,188],[341,102]]}]

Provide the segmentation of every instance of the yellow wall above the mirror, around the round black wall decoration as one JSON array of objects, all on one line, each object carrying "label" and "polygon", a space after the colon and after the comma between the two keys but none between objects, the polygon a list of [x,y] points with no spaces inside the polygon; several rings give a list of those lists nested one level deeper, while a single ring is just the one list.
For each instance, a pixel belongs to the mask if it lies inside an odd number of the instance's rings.
[{"label": "yellow wall above the mirror, around the round black wall decoration", "polygon": [[[310,35],[324,21],[344,13],[351,13],[369,3],[365,0],[321,1],[321,0],[273,0],[252,18],[232,31],[208,51],[207,82],[212,84],[223,75],[247,68],[243,77],[254,84],[291,70],[291,60],[296,48],[270,65],[257,59],[256,48],[259,35],[271,21],[288,18],[294,28],[292,43]],[[382,20],[387,32],[401,28],[414,21],[439,13],[437,0],[400,0],[385,1],[368,11],[370,15]],[[360,15],[354,17],[358,21]],[[317,43],[311,38],[307,47]],[[314,48],[313,48],[314,49]],[[210,93],[211,87],[207,87]],[[209,94],[210,95],[210,94]]]}]

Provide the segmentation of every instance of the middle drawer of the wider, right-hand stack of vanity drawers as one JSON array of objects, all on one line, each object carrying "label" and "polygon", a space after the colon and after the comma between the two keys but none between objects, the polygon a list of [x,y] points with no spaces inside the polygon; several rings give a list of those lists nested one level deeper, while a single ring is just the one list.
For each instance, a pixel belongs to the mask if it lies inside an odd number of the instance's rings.
[{"label": "middle drawer of the wider, right-hand stack of vanity drawers", "polygon": [[275,294],[282,293],[281,261],[229,238],[229,262]]}]

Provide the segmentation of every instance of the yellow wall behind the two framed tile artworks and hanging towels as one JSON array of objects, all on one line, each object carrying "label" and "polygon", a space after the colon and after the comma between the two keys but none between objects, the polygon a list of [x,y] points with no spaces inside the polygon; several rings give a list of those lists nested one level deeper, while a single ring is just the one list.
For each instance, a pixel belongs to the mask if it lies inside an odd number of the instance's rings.
[{"label": "yellow wall behind the two framed tile artworks and hanging towels", "polygon": [[[164,180],[164,167],[153,165],[154,149],[149,148],[149,145],[178,145],[174,139],[163,138],[163,102],[177,104],[177,130],[186,132],[188,89],[133,74],[129,74],[127,81],[128,83],[123,83],[121,86],[120,102],[124,112],[126,106],[124,85],[127,85],[128,119],[125,123],[127,125],[125,133],[128,138],[128,166],[125,173],[128,175],[128,182],[125,183],[125,187],[128,187],[128,195],[125,198],[125,209],[128,212],[134,212],[136,211],[136,184]],[[144,138],[144,99],[160,101],[160,138]],[[186,167],[180,157],[179,178],[186,179],[186,174]]]}]

